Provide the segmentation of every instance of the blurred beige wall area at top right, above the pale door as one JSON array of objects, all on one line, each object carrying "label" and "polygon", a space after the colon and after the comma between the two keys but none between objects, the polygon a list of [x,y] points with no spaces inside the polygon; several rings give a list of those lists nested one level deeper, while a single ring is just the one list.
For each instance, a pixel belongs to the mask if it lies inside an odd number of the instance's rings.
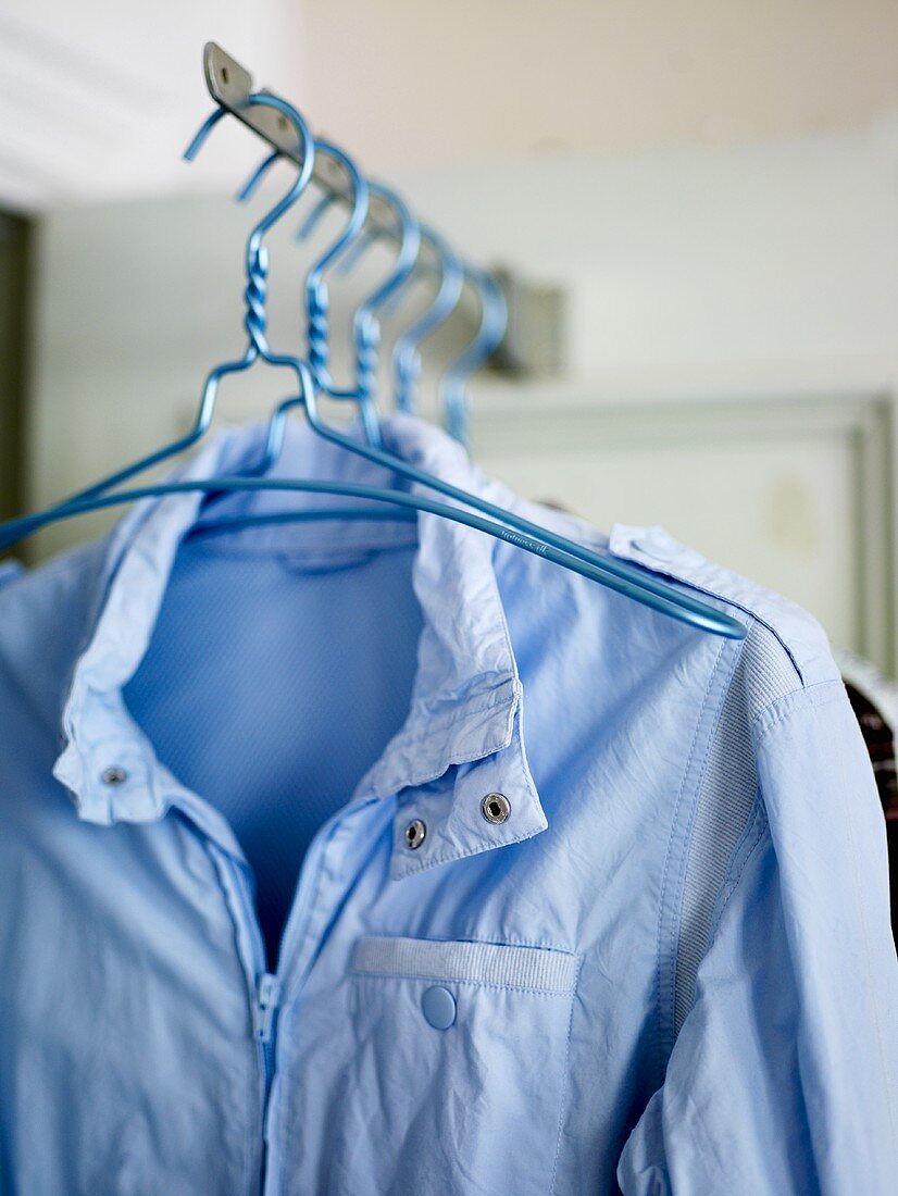
[{"label": "blurred beige wall area at top right, above the pale door", "polygon": [[305,103],[442,164],[733,144],[898,108],[896,0],[307,0]]}]

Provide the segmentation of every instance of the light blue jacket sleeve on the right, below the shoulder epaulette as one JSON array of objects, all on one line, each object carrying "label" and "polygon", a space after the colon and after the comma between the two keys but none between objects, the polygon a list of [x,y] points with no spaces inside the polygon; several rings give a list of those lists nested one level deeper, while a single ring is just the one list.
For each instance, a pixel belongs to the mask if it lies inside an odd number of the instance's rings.
[{"label": "light blue jacket sleeve on the right, below the shoulder epaulette", "polygon": [[885,820],[844,687],[774,703],[753,742],[753,829],[618,1183],[624,1196],[891,1196],[898,964]]}]

